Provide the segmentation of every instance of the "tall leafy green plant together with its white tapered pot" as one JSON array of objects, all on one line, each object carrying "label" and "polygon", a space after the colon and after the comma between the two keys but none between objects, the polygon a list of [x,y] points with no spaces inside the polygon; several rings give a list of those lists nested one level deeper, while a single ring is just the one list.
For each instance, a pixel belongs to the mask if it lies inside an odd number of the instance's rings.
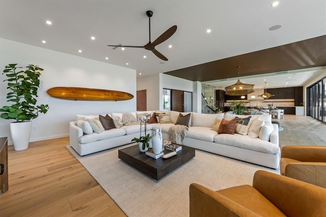
[{"label": "tall leafy green plant together with its white tapered pot", "polygon": [[3,119],[13,119],[10,123],[10,131],[16,151],[27,149],[32,131],[32,119],[45,114],[48,105],[36,105],[36,97],[40,85],[40,71],[42,68],[35,65],[28,65],[24,68],[17,67],[17,64],[5,66],[3,74],[8,77],[4,82],[8,83],[7,101],[9,106],[0,108],[0,115]]}]

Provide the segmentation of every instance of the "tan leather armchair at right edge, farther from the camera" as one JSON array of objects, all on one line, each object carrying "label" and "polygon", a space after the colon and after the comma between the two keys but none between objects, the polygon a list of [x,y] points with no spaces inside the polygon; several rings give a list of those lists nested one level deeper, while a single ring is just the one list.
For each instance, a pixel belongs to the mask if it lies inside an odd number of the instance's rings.
[{"label": "tan leather armchair at right edge, farther from the camera", "polygon": [[280,173],[326,188],[326,147],[284,146],[281,151]]}]

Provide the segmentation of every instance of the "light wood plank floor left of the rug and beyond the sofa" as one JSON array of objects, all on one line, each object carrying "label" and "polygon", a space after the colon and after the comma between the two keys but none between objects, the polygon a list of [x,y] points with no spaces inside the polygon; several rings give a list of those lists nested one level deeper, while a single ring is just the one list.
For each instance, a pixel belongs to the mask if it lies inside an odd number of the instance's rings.
[{"label": "light wood plank floor left of the rug and beyond the sofa", "polygon": [[[273,119],[278,120],[278,119]],[[280,147],[326,145],[326,124],[311,117],[278,120]],[[9,191],[0,195],[0,216],[125,216],[68,151],[69,138],[9,146]]]}]

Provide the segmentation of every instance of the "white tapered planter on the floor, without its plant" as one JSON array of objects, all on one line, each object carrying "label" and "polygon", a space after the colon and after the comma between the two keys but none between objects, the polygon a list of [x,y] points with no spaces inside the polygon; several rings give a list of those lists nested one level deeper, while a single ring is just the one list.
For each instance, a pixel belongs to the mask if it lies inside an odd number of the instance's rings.
[{"label": "white tapered planter on the floor, without its plant", "polygon": [[10,123],[10,132],[15,151],[29,147],[32,132],[32,121]]}]

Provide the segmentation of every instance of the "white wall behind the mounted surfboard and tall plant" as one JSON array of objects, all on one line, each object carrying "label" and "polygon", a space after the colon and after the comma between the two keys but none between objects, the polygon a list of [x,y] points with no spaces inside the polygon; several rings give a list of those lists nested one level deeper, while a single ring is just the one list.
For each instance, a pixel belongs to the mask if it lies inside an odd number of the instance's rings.
[{"label": "white wall behind the mounted surfboard and tall plant", "polygon": [[[66,137],[69,122],[76,114],[110,114],[136,110],[136,71],[112,64],[102,63],[66,53],[48,50],[0,38],[0,66],[18,63],[17,66],[38,65],[41,72],[37,104],[48,104],[46,114],[33,120],[32,141]],[[3,70],[2,70],[3,71]],[[0,80],[6,76],[0,74]],[[52,87],[84,87],[117,90],[134,96],[126,101],[73,101],[49,96],[46,91]],[[0,83],[0,106],[7,102],[7,83]],[[0,137],[8,137],[12,144],[9,123],[13,120],[0,119]]]}]

